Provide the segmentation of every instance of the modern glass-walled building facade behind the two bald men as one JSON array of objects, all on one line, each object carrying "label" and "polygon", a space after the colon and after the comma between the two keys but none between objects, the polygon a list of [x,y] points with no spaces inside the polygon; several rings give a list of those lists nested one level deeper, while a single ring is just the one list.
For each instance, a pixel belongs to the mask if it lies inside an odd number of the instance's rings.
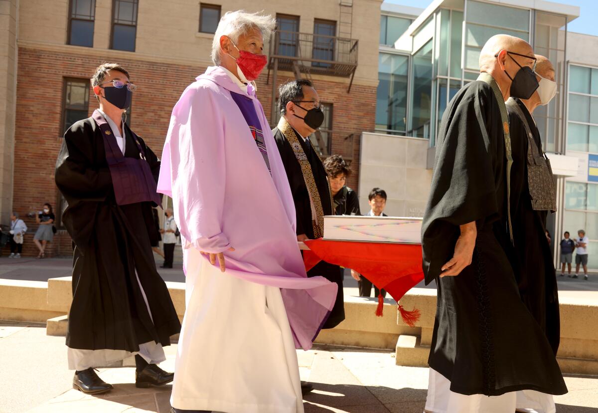
[{"label": "modern glass-walled building facade behind the two bald men", "polygon": [[[428,138],[434,146],[450,99],[463,84],[475,80],[480,73],[478,60],[483,45],[493,35],[509,34],[530,42],[537,54],[547,56],[553,63],[557,95],[550,104],[536,108],[534,117],[544,140],[544,150],[563,153],[566,16],[478,0],[454,1],[451,7],[438,8],[412,34],[410,62],[406,56],[391,57],[381,48],[376,130]],[[395,37],[400,37],[408,28],[410,20],[396,19],[399,18],[381,17],[380,44],[392,45]],[[595,76],[594,87],[598,93],[598,69],[595,75],[585,76],[588,79]],[[598,96],[594,102],[593,96],[579,93],[569,104],[590,108],[590,113],[587,120],[579,121],[586,122],[582,126],[569,123],[568,127],[576,129],[576,136],[581,136],[578,140],[584,140],[589,147],[598,139],[598,123],[596,130],[591,127],[594,120],[598,122]],[[583,111],[579,113],[581,116]],[[579,143],[569,139],[569,145],[574,144]]]}]

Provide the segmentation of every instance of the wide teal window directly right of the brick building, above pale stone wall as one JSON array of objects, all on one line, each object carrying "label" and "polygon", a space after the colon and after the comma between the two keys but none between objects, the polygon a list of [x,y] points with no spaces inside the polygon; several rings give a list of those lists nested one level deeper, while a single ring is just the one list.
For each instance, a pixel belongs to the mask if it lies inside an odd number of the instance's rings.
[{"label": "wide teal window directly right of the brick building, above pale stone wall", "polygon": [[407,77],[409,57],[380,53],[376,92],[376,130],[383,133],[407,132]]}]

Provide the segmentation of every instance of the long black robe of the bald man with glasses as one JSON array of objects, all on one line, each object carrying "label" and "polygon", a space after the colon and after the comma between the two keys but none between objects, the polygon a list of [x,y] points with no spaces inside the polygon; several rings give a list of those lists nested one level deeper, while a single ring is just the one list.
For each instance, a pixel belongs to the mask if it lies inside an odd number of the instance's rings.
[{"label": "long black robe of the bald man with glasses", "polygon": [[[507,213],[504,145],[498,100],[488,84],[472,81],[444,112],[422,224],[425,280],[436,280],[438,294],[428,363],[456,393],[563,394],[553,350],[520,299],[505,253],[510,241],[501,224]],[[456,277],[440,278],[459,225],[472,221],[472,264]]]}]

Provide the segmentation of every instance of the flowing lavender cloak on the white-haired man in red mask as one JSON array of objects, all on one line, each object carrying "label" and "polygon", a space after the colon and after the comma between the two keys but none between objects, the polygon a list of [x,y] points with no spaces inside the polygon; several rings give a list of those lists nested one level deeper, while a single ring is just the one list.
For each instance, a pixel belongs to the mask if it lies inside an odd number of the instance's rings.
[{"label": "flowing lavender cloak on the white-haired man in red mask", "polygon": [[[251,99],[265,153],[231,93]],[[295,346],[311,348],[337,284],[307,278],[286,172],[251,84],[244,93],[212,66],[185,89],[170,118],[158,192],[173,198],[184,259],[188,248],[224,253],[227,274],[279,287]]]}]

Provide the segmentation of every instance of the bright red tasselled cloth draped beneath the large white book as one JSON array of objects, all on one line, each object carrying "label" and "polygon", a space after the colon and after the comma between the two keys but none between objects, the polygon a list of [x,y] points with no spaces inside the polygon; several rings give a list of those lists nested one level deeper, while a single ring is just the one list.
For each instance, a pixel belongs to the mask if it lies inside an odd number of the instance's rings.
[{"label": "bright red tasselled cloth draped beneath the large white book", "polygon": [[[354,269],[379,289],[388,291],[397,302],[423,280],[420,244],[328,241],[322,238],[305,243],[310,248],[303,251],[307,271],[320,260]],[[402,309],[401,314],[405,318]]]}]

